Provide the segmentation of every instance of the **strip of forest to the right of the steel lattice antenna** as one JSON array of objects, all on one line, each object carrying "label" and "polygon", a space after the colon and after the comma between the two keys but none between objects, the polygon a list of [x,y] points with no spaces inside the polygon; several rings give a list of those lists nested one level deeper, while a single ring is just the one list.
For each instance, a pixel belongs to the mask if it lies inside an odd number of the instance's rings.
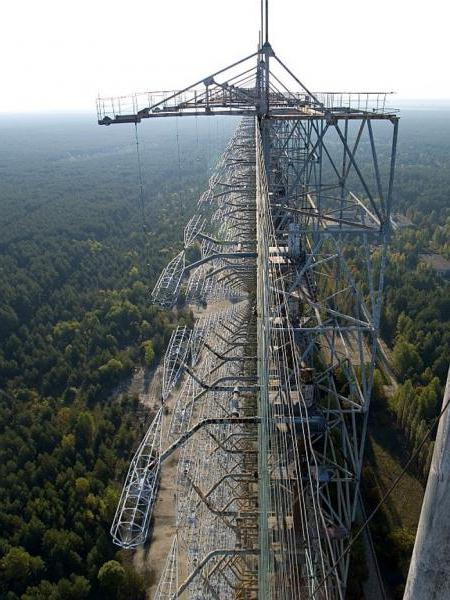
[{"label": "strip of forest to the right of the steel lattice antenna", "polygon": [[[381,368],[376,372],[363,474],[367,511],[419,448],[441,410],[450,365],[450,279],[422,256],[450,258],[449,117],[448,110],[402,114],[394,213],[407,217],[409,225],[393,236],[386,269],[381,337],[394,382]],[[403,597],[434,436],[432,430],[371,526],[393,598]]]}]

